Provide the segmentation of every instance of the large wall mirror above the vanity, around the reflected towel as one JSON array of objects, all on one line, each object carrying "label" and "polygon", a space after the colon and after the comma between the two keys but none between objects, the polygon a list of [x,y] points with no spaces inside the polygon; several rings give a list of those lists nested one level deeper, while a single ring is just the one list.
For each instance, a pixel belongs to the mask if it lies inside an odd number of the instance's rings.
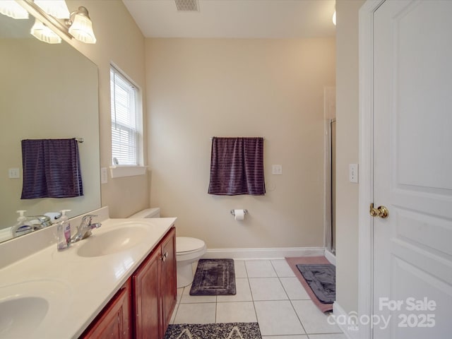
[{"label": "large wall mirror above the vanity, around the reflected towel", "polygon": [[[42,215],[70,209],[71,218],[101,207],[97,66],[64,41],[32,37],[34,21],[0,14],[0,242],[11,239],[16,210]],[[20,199],[20,141],[40,138],[83,138],[83,196]]]}]

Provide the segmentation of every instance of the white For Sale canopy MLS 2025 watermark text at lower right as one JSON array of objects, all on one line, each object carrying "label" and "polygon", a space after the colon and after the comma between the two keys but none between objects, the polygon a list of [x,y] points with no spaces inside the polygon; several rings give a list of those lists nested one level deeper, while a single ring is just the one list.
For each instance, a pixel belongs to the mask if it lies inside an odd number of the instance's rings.
[{"label": "white For Sale canopy MLS 2025 watermark text at lower right", "polygon": [[[391,312],[390,314],[362,314],[358,316],[356,311],[349,314],[328,316],[330,325],[347,326],[348,331],[358,331],[359,325],[385,330],[391,321],[397,321],[398,327],[434,327],[435,314],[429,313],[436,310],[436,302],[427,297],[416,299],[408,297],[405,300],[393,300],[388,297],[379,298],[379,311]],[[410,313],[411,312],[411,313]],[[396,313],[396,314],[395,314]],[[393,317],[394,316],[394,317]],[[393,320],[394,318],[394,320]]]}]

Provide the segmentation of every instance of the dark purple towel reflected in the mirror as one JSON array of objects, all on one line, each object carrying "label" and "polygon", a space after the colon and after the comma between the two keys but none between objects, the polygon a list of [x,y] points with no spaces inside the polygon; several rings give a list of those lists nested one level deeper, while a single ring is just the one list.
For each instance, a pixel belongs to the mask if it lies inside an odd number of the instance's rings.
[{"label": "dark purple towel reflected in the mirror", "polygon": [[22,164],[22,199],[83,196],[75,138],[23,140]]}]

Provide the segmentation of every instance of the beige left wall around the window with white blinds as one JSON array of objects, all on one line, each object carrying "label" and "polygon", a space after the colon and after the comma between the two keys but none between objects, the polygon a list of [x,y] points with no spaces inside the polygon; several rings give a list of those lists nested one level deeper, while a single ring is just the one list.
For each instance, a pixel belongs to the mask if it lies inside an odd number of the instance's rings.
[{"label": "beige left wall around the window with white blinds", "polygon": [[[90,58],[99,69],[100,165],[112,165],[109,64],[113,62],[145,92],[144,37],[120,0],[67,0],[70,11],[86,6],[93,21],[96,44],[71,40],[76,49]],[[143,95],[145,102],[145,95]],[[145,105],[143,108],[146,117]],[[145,121],[144,121],[145,125]],[[145,163],[146,163],[145,139]],[[149,206],[147,175],[109,178],[101,185],[102,206],[109,206],[112,218],[124,218]]]}]

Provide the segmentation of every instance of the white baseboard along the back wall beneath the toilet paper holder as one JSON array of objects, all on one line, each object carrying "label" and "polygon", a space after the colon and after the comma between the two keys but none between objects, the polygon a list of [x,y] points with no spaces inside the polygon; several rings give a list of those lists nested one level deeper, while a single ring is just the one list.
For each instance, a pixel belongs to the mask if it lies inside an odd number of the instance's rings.
[{"label": "white baseboard along the back wall beneath the toilet paper holder", "polygon": [[287,247],[269,249],[208,249],[203,258],[275,259],[292,256],[323,256],[323,247]]}]

